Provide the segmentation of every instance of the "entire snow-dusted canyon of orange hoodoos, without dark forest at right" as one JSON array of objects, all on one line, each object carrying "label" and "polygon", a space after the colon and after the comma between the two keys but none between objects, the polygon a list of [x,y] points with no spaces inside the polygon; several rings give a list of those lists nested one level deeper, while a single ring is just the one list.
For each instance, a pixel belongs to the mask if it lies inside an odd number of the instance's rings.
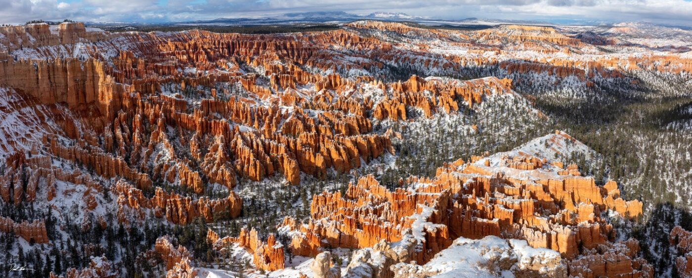
[{"label": "entire snow-dusted canyon of orange hoodoos, without dark forest at right", "polygon": [[[549,89],[600,101],[655,83],[637,75],[689,78],[692,57],[576,31],[0,26],[0,232],[17,258],[82,249],[52,278],[196,277],[237,260],[227,272],[249,277],[657,277],[628,230],[650,204],[590,173],[604,157],[567,132],[519,141],[509,122],[554,125]],[[388,176],[430,148],[404,148],[415,132],[451,123],[513,142]],[[486,141],[472,143],[499,144]],[[691,238],[668,238],[680,277]]]}]

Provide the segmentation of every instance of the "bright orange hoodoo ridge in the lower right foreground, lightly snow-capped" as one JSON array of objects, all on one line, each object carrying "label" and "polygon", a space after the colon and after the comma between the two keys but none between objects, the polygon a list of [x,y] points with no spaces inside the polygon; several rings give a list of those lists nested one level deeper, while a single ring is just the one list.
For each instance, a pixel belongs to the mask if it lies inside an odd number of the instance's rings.
[{"label": "bright orange hoodoo ridge in the lower right foreground, lightly snow-capped", "polygon": [[344,196],[313,196],[311,218],[286,218],[280,230],[291,231],[289,248],[302,256],[412,237],[415,251],[399,259],[423,264],[455,238],[501,236],[559,252],[568,275],[652,277],[653,268],[637,257],[639,243],[613,242],[612,225],[601,214],[636,218],[641,202],[622,200],[614,182],[598,186],[592,177],[563,173],[541,159],[494,157],[448,164],[432,179],[409,177],[407,189],[391,191],[372,175],[361,177]]}]

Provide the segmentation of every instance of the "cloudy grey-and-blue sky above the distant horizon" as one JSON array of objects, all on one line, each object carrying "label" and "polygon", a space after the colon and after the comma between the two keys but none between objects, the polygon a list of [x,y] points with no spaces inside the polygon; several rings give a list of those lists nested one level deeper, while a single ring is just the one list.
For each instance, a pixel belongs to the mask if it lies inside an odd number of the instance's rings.
[{"label": "cloudy grey-and-blue sky above the distant horizon", "polygon": [[0,24],[34,19],[161,23],[311,11],[692,26],[692,0],[0,0]]}]

